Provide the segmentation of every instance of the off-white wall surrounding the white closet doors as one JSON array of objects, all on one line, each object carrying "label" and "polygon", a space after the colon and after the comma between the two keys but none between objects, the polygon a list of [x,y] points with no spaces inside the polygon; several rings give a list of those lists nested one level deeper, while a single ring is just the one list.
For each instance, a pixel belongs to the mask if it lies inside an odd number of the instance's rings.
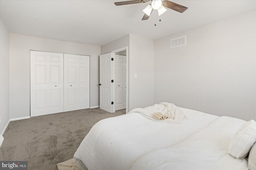
[{"label": "off-white wall surrounding the white closet doors", "polygon": [[30,50],[90,55],[90,107],[99,106],[100,46],[10,33],[10,119],[30,116]]}]

